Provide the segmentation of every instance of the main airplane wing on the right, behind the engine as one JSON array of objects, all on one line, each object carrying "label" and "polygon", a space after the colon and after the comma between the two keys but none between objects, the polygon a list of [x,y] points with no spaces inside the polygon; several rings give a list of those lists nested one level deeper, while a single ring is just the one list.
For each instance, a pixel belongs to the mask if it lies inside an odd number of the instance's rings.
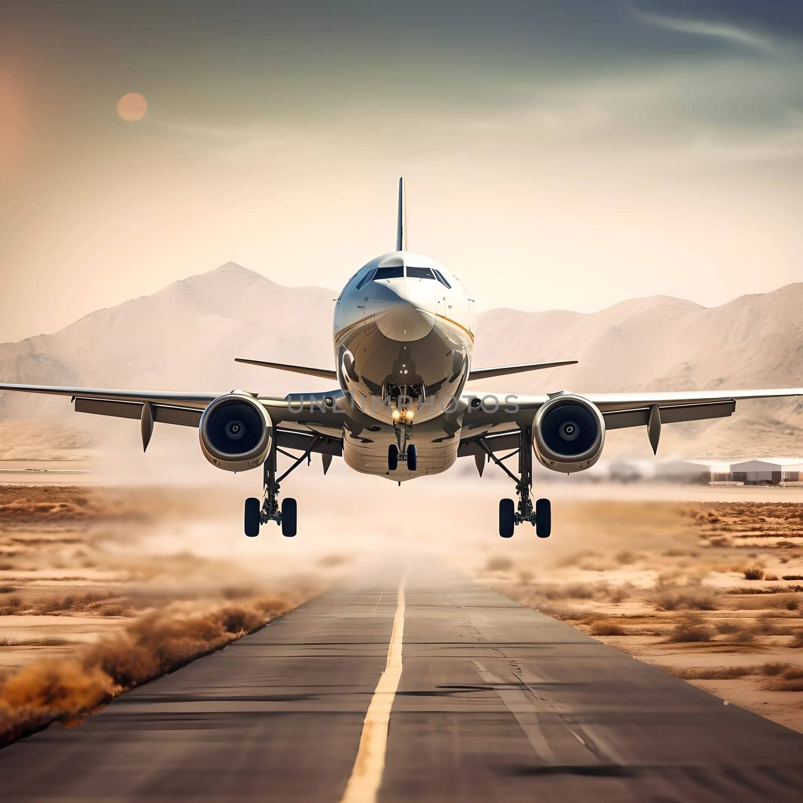
[{"label": "main airplane wing on the right, behind the engine", "polygon": [[[536,410],[551,395],[516,396],[509,393],[464,393],[467,413],[463,420],[459,456],[484,454],[480,441],[493,451],[515,449],[522,427],[532,426]],[[647,426],[653,410],[658,421],[671,424],[725,418],[736,410],[736,402],[803,396],[803,388],[757,390],[663,391],[656,393],[581,393],[595,404],[605,418],[606,430]]]}]

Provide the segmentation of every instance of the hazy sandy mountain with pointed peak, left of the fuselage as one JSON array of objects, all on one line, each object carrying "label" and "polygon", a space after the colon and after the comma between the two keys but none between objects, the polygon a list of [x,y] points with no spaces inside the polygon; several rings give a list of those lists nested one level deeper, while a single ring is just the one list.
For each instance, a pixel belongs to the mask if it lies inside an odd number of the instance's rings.
[{"label": "hazy sandy mountain with pointed peak, left of the fuselage", "polygon": [[[234,357],[331,367],[332,299],[320,287],[283,287],[227,263],[101,309],[60,332],[0,345],[3,381],[171,390],[320,388],[234,362]],[[55,406],[54,406],[55,401]],[[3,394],[0,414],[19,415],[59,400]]]}]

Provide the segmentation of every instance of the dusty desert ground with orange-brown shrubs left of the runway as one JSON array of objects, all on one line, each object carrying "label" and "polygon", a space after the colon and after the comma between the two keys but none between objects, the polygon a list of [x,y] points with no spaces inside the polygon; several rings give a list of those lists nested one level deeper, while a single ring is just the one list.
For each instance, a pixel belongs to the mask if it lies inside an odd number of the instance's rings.
[{"label": "dusty desert ground with orange-brown shrubs left of the runway", "polygon": [[226,646],[343,563],[231,559],[218,507],[209,492],[0,486],[0,745]]}]

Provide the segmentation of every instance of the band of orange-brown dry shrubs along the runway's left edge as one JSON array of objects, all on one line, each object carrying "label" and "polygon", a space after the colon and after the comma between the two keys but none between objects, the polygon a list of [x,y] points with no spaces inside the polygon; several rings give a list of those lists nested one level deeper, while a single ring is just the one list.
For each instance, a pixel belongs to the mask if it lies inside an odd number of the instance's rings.
[{"label": "band of orange-brown dry shrubs along the runway's left edge", "polygon": [[201,610],[197,603],[173,603],[146,613],[79,658],[25,666],[0,686],[0,746],[55,719],[80,719],[129,688],[221,649],[295,604],[289,597]]}]

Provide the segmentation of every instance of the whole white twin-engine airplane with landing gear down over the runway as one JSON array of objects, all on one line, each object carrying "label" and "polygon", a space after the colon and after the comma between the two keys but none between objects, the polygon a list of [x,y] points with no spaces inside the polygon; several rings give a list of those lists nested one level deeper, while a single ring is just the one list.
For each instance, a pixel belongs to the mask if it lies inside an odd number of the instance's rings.
[{"label": "whole white twin-engine airplane with landing gear down over the runway", "polygon": [[[237,358],[336,381],[334,389],[287,396],[10,384],[0,390],[69,396],[81,413],[138,418],[144,450],[154,423],[197,427],[214,466],[263,467],[263,498],[245,503],[251,537],[271,521],[284,536],[296,535],[296,500],[279,505],[279,484],[315,453],[324,474],[333,457],[342,457],[354,471],[400,485],[446,471],[459,457],[473,457],[480,476],[492,461],[515,483],[517,497],[499,501],[499,536],[510,538],[528,523],[546,538],[552,512],[548,499],[532,500],[533,454],[552,471],[585,471],[597,463],[608,430],[644,426],[657,454],[663,424],[727,417],[744,399],[803,395],[803,388],[528,396],[467,390],[470,381],[577,361],[474,368],[474,300],[454,273],[408,250],[403,178],[396,228],[396,250],[363,265],[336,300],[334,369]],[[279,476],[277,454],[294,461]],[[504,463],[514,456],[517,473]]]}]

